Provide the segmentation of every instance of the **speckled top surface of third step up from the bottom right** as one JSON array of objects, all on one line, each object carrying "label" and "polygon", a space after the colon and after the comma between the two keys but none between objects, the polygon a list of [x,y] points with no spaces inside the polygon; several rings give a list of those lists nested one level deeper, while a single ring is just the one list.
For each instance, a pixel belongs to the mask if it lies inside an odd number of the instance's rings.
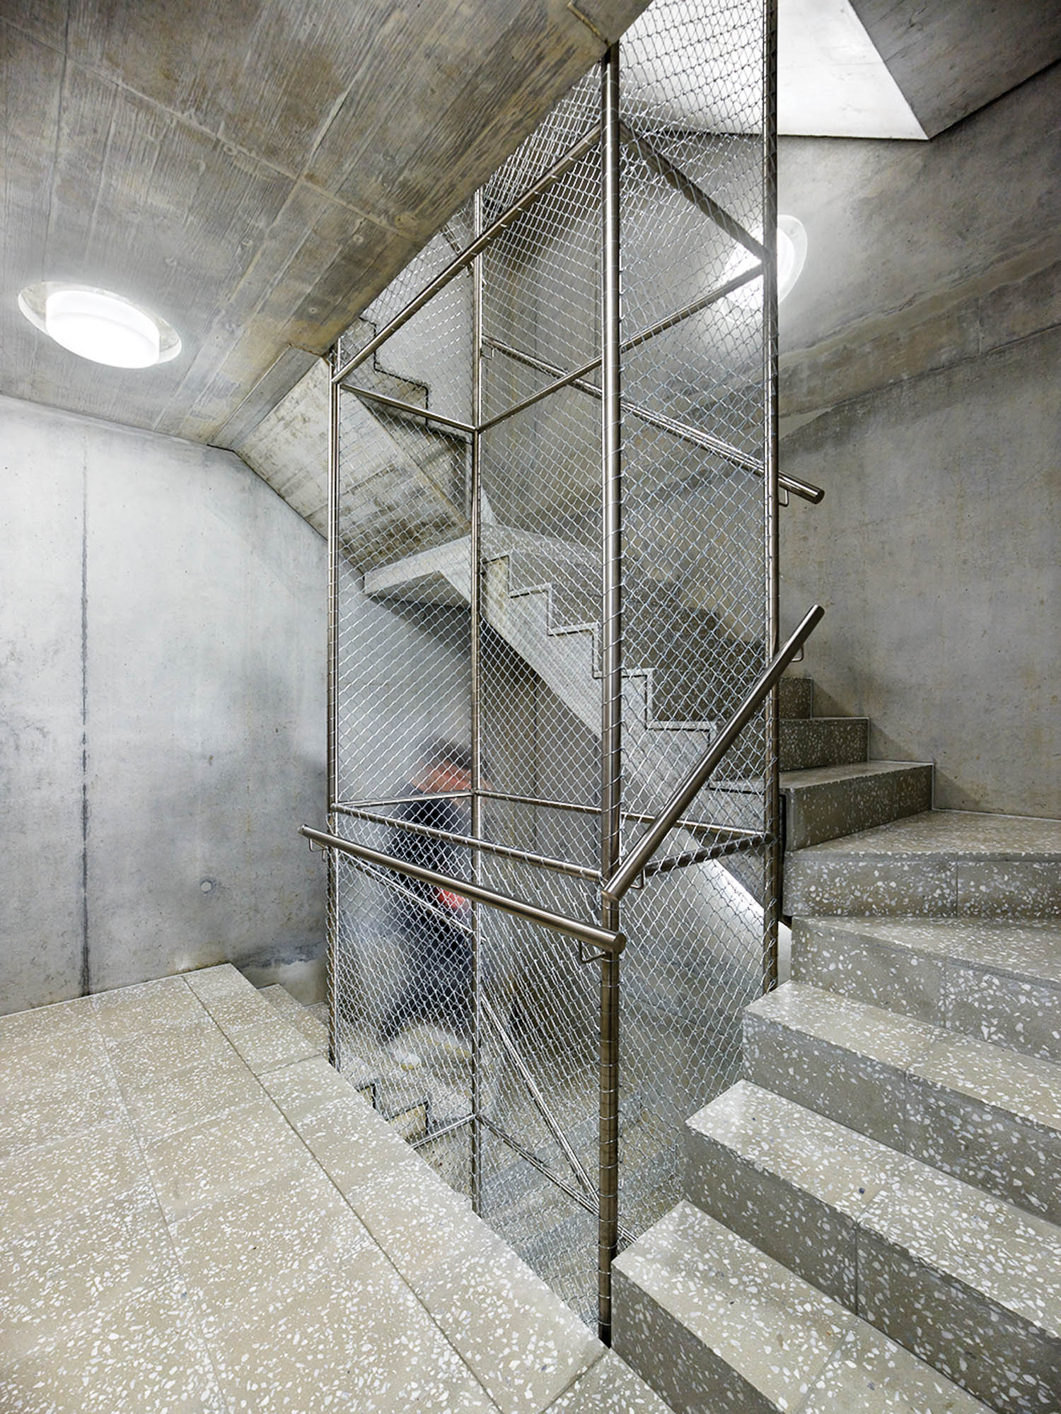
[{"label": "speckled top surface of third step up from the bottom right", "polygon": [[788,981],[748,1012],[1061,1133],[1061,1065]]}]

